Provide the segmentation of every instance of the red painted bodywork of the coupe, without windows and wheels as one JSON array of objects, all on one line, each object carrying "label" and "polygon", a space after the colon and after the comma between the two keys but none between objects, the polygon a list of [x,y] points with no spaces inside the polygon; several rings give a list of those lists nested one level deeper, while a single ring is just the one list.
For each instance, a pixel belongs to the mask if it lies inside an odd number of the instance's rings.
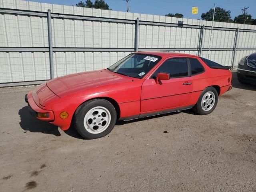
[{"label": "red painted bodywork of the coupe, without windows and wheels", "polygon": [[[116,103],[119,118],[138,118],[143,114],[182,107],[191,108],[206,87],[216,86],[219,94],[231,89],[229,70],[208,67],[198,56],[168,52],[138,52],[162,57],[160,62],[142,79],[116,74],[108,70],[82,72],[62,76],[38,86],[28,93],[28,103],[36,112],[50,112],[50,123],[67,130],[76,109],[94,98],[106,98]],[[154,71],[169,58],[197,58],[205,71],[190,77],[170,78],[156,84]],[[183,85],[191,83],[188,85]],[[61,112],[68,112],[68,118],[61,119]],[[52,119],[52,115],[54,116]]]}]

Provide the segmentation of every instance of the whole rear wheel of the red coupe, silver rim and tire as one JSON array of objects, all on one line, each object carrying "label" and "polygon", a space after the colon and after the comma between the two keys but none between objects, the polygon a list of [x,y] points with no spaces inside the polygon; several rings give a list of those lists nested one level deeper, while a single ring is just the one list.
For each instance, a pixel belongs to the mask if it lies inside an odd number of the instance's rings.
[{"label": "whole rear wheel of the red coupe, silver rim and tire", "polygon": [[218,103],[218,92],[214,87],[206,88],[193,107],[194,112],[200,115],[210,114]]}]

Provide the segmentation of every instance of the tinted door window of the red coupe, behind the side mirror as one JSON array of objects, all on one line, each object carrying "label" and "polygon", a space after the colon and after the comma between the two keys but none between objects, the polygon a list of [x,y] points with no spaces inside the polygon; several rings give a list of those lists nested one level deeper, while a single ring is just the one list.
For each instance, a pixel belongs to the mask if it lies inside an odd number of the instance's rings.
[{"label": "tinted door window of the red coupe, behind the side mirror", "polygon": [[156,78],[158,73],[169,73],[170,78],[188,76],[188,64],[186,58],[174,58],[166,60],[154,72],[152,78]]}]

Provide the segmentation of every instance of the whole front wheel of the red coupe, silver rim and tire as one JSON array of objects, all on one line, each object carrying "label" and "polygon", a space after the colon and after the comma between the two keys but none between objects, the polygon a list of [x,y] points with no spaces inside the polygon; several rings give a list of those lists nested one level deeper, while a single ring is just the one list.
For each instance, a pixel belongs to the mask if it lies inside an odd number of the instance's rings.
[{"label": "whole front wheel of the red coupe, silver rim and tire", "polygon": [[116,109],[107,100],[94,99],[83,103],[74,114],[74,127],[86,139],[109,134],[116,124]]}]

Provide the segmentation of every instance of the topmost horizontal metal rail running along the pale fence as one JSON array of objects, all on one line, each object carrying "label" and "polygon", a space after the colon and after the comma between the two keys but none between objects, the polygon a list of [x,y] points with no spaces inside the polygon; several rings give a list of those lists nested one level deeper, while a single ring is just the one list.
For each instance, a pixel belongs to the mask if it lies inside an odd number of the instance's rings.
[{"label": "topmost horizontal metal rail running along the pale fence", "polygon": [[[17,10],[17,9],[7,9],[7,8],[0,8],[0,14],[14,14],[14,15],[47,17],[47,12]],[[73,15],[73,14],[52,13],[51,17],[52,18],[60,18],[60,19],[89,20],[89,21],[98,21],[98,22],[116,22],[116,23],[135,24],[135,20],[102,18],[102,17],[82,16],[82,15]],[[140,21],[139,25],[170,26],[170,27],[181,27],[181,28],[183,27],[183,28],[196,28],[196,29],[202,28],[201,25],[176,24],[176,23],[152,22],[152,21]],[[211,30],[211,28],[212,28],[211,26],[205,26],[206,30]],[[213,27],[213,30],[236,31],[236,29],[237,28]],[[240,29],[240,32],[256,32],[256,30]]]}]

